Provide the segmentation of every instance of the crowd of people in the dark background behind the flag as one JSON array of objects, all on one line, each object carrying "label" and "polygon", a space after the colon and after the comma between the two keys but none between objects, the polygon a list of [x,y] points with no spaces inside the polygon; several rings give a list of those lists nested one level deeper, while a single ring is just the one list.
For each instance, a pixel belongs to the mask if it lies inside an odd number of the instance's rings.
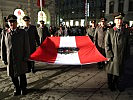
[{"label": "crowd of people in the dark background behind the flag", "polygon": [[[47,27],[48,32],[50,34],[50,36],[85,36],[87,35],[87,31],[90,27],[92,27],[92,23],[95,20],[91,21],[91,25],[87,25],[87,26],[66,26],[61,24],[60,26],[50,26]],[[112,28],[115,25],[115,23],[111,24],[111,23],[106,23],[107,28]],[[40,26],[40,24],[37,25],[37,28]],[[125,26],[125,28],[128,28],[130,31],[130,34],[133,34],[133,25],[130,27],[129,23],[125,22],[123,23],[123,26]],[[21,26],[22,27],[22,26]],[[95,28],[96,27],[100,27],[100,23],[96,23],[95,22]],[[3,29],[7,29],[9,28],[8,24],[5,24],[5,27]],[[2,28],[0,28],[0,33],[3,30]],[[46,29],[46,30],[47,30]]]}]

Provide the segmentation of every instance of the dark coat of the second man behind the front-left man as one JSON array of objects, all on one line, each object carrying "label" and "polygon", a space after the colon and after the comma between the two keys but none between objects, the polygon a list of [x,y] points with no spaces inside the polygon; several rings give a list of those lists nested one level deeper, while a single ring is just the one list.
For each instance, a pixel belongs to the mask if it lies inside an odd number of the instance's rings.
[{"label": "dark coat of the second man behind the front-left man", "polygon": [[36,26],[34,25],[30,25],[29,27],[24,27],[24,29],[29,35],[30,54],[32,54],[36,50],[36,43],[38,46],[40,45],[39,35]]}]

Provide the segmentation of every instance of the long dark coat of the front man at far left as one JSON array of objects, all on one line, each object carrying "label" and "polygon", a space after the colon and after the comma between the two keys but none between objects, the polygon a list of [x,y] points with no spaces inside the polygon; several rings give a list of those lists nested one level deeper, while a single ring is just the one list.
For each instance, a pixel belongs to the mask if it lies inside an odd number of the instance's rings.
[{"label": "long dark coat of the front man at far left", "polygon": [[29,38],[25,30],[17,28],[11,32],[9,29],[2,33],[1,57],[8,63],[7,73],[9,76],[16,77],[26,73],[29,49]]}]

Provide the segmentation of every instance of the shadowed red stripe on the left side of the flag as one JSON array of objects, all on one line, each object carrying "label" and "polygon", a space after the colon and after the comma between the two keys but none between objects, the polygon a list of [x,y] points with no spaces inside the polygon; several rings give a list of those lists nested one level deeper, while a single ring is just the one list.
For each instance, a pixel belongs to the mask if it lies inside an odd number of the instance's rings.
[{"label": "shadowed red stripe on the left side of the flag", "polygon": [[30,56],[31,60],[54,63],[57,57],[60,37],[48,37]]}]

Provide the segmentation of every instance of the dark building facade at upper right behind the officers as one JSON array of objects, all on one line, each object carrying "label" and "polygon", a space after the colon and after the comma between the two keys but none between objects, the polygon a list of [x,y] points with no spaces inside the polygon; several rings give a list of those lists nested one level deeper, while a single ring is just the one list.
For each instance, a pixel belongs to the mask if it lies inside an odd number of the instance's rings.
[{"label": "dark building facade at upper right behind the officers", "polygon": [[130,26],[133,24],[133,0],[106,0],[106,14],[108,21],[114,20],[114,16],[123,12],[124,21]]}]

